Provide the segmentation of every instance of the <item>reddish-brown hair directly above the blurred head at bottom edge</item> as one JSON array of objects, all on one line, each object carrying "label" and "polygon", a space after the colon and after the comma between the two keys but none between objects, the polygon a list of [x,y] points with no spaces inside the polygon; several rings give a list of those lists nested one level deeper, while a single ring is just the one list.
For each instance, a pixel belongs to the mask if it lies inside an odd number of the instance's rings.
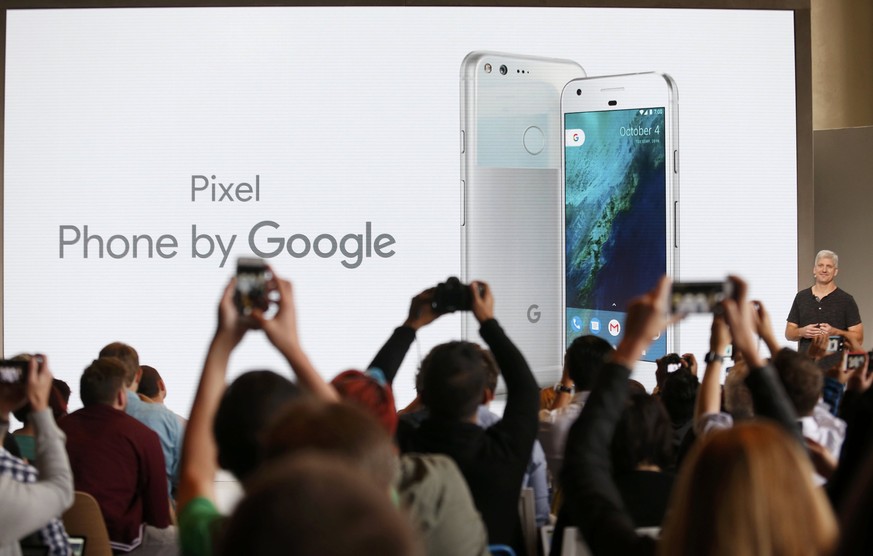
[{"label": "reddish-brown hair directly above the blurred head at bottom edge", "polygon": [[317,452],[361,469],[388,492],[397,471],[391,436],[373,415],[350,402],[298,399],[283,408],[264,440],[264,461]]}]

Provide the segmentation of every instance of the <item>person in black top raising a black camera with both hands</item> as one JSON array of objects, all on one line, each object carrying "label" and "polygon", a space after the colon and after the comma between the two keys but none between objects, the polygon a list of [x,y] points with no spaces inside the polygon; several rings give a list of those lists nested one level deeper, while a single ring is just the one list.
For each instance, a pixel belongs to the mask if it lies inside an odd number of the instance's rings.
[{"label": "person in black top raising a black camera with both hands", "polygon": [[[488,530],[490,544],[506,544],[525,554],[518,499],[536,438],[539,388],[518,348],[494,319],[494,299],[484,282],[470,285],[472,311],[480,334],[494,354],[506,382],[503,418],[488,429],[476,424],[487,382],[487,361],[470,342],[449,342],[424,358],[416,378],[428,417],[414,430],[398,431],[403,452],[446,454],[467,480]],[[433,290],[415,296],[409,316],[376,355],[371,367],[390,384],[415,339],[416,331],[440,315],[432,306]]]}]

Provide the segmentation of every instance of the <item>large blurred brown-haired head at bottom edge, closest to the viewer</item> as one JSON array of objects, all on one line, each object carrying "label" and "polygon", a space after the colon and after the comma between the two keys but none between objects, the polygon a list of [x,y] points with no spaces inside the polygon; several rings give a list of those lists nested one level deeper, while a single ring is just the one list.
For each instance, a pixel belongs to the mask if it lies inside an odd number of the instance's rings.
[{"label": "large blurred brown-haired head at bottom edge, closest to the viewer", "polygon": [[259,472],[227,523],[218,555],[417,556],[409,523],[347,460],[310,454]]}]

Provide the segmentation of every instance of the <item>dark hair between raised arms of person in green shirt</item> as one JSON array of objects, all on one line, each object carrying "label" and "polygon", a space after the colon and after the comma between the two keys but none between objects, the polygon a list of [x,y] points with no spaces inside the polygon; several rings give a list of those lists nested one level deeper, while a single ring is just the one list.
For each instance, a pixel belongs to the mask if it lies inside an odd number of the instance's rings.
[{"label": "dark hair between raised arms of person in green shirt", "polygon": [[272,371],[250,371],[237,377],[221,398],[213,431],[218,463],[244,480],[261,461],[261,439],[279,409],[296,399],[300,389]]}]

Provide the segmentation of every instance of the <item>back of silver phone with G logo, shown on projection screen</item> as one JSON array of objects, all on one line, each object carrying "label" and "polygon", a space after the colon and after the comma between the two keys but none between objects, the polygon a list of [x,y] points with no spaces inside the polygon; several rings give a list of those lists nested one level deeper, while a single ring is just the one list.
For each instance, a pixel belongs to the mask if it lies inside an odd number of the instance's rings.
[{"label": "back of silver phone with G logo, shown on projection screen", "polygon": [[[572,60],[476,51],[461,64],[461,280],[484,280],[495,316],[538,381],[561,371],[561,90]],[[471,314],[462,336],[478,338]]]}]

